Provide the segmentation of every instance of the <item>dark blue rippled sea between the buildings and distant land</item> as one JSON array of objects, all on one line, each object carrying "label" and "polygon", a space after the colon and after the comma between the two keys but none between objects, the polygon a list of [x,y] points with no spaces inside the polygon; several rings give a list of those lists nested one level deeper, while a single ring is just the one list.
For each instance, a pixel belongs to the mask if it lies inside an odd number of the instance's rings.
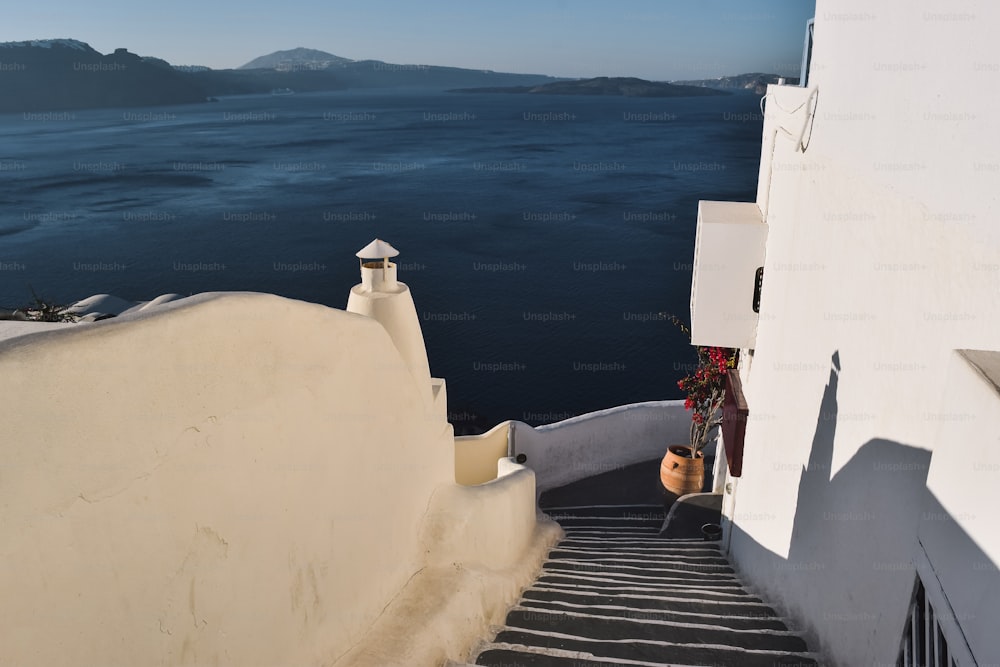
[{"label": "dark blue rippled sea between the buildings and distant land", "polygon": [[[677,398],[697,201],[754,197],[757,97],[344,92],[0,116],[0,306],[29,285],[343,308],[395,245],[456,421]],[[248,360],[249,362],[249,360]]]}]

